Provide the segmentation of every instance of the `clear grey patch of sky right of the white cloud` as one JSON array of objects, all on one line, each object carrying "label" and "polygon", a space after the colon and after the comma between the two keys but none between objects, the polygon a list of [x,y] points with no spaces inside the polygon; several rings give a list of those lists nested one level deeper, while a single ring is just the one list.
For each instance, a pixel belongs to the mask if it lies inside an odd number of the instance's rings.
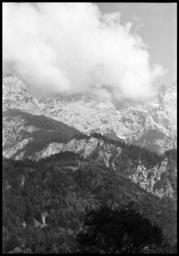
[{"label": "clear grey patch of sky right of the white cloud", "polygon": [[121,21],[132,22],[150,53],[150,62],[168,70],[157,83],[177,80],[177,4],[176,3],[97,3],[101,12],[121,12]]}]

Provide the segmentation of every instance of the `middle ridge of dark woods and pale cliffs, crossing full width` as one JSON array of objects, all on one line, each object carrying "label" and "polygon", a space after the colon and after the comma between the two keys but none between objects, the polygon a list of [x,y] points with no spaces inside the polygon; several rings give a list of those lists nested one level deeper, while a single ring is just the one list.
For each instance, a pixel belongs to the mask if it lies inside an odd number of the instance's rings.
[{"label": "middle ridge of dark woods and pale cliffs, crossing full width", "polygon": [[[11,122],[8,122],[9,118]],[[177,166],[173,165],[168,173],[168,159],[147,149],[114,142],[98,134],[86,136],[61,122],[19,110],[5,111],[4,126],[5,158],[40,161],[60,152],[74,152],[84,161],[90,159],[89,163],[101,163],[123,173],[159,197],[176,196],[173,179],[177,179]]]}]

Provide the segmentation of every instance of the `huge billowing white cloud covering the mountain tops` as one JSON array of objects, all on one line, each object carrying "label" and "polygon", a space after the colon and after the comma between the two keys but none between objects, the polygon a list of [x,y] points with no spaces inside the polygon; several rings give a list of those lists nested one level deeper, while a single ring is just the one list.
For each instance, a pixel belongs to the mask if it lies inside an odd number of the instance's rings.
[{"label": "huge billowing white cloud covering the mountain tops", "polygon": [[151,66],[146,45],[120,16],[90,3],[3,3],[4,72],[23,74],[38,98],[91,84],[119,98],[146,97],[164,70]]}]

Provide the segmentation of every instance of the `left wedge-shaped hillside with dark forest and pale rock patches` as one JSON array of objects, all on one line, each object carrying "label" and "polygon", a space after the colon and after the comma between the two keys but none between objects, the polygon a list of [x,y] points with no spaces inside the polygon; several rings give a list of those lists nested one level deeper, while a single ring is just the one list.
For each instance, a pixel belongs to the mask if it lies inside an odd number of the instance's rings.
[{"label": "left wedge-shaped hillside with dark forest and pale rock patches", "polygon": [[22,159],[50,143],[68,142],[79,135],[82,138],[77,129],[43,115],[15,109],[8,109],[3,114],[3,155],[6,158]]}]

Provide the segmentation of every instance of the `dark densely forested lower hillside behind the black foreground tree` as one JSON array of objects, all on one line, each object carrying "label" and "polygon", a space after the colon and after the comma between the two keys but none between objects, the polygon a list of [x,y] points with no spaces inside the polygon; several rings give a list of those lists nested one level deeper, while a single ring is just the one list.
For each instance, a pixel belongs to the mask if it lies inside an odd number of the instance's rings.
[{"label": "dark densely forested lower hillside behind the black foreground tree", "polygon": [[[170,197],[161,200],[100,163],[89,165],[79,155],[64,152],[38,162],[4,159],[3,168],[4,252],[17,247],[21,252],[74,252],[80,214],[101,204],[132,202],[162,227],[167,243],[176,238],[177,209]],[[38,231],[32,216],[40,221],[43,211],[48,213],[47,227]]]}]

